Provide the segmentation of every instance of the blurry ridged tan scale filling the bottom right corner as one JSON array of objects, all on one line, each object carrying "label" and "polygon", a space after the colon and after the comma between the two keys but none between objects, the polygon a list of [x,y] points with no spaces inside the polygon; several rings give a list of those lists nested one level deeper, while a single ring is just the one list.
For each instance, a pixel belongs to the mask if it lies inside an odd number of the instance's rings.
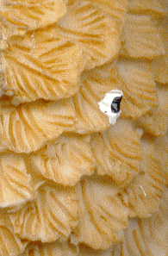
[{"label": "blurry ridged tan scale filling the bottom right corner", "polygon": [[168,253],[168,191],[162,198],[159,212],[147,219],[134,219],[125,232],[124,256],[166,256]]}]

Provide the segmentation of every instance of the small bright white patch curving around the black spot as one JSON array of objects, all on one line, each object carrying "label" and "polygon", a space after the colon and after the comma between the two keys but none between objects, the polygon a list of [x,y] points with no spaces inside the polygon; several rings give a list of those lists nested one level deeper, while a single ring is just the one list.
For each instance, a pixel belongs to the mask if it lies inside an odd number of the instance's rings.
[{"label": "small bright white patch curving around the black spot", "polygon": [[117,113],[111,109],[111,103],[115,97],[123,97],[123,92],[120,90],[112,90],[105,94],[103,99],[98,103],[99,109],[106,115],[109,116],[109,123],[115,124],[117,118],[121,115],[121,110]]}]

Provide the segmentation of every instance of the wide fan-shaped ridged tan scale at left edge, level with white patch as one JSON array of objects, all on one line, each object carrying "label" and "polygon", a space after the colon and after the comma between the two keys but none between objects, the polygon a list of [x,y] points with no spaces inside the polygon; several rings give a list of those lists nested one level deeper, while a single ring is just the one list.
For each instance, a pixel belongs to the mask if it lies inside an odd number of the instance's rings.
[{"label": "wide fan-shaped ridged tan scale at left edge, level with white patch", "polygon": [[74,123],[71,99],[18,107],[6,101],[0,104],[0,138],[3,147],[16,153],[31,153],[40,149]]}]

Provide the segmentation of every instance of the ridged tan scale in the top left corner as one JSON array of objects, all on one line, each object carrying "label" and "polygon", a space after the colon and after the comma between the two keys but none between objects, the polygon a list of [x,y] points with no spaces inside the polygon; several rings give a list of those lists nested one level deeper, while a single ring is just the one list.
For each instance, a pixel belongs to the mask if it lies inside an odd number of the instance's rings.
[{"label": "ridged tan scale in the top left corner", "polygon": [[0,26],[3,40],[57,22],[66,12],[64,0],[1,0]]}]

